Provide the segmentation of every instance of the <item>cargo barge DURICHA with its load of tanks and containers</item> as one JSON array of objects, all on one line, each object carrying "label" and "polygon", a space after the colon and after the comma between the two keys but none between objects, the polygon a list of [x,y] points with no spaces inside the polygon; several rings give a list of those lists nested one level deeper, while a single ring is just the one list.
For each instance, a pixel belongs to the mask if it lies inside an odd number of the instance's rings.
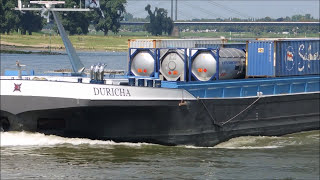
[{"label": "cargo barge DURICHA with its load of tanks and containers", "polygon": [[213,146],[320,127],[319,39],[128,53],[126,76],[1,76],[2,130]]}]

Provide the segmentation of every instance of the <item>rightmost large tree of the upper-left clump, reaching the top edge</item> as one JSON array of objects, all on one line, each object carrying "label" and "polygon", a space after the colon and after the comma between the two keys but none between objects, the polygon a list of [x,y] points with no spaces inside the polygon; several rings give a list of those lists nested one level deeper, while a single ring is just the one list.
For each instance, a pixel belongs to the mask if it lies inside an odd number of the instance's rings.
[{"label": "rightmost large tree of the upper-left clump, reaching the top edge", "polygon": [[96,30],[103,31],[107,35],[109,31],[118,33],[120,21],[124,18],[126,0],[100,0],[100,8],[104,14],[104,18],[100,10],[96,10],[94,15],[94,24]]}]

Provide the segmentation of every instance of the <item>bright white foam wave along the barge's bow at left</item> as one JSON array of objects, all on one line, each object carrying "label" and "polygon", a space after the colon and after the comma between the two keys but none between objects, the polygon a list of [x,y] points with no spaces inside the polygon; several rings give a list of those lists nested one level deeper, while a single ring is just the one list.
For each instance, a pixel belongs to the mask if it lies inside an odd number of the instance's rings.
[{"label": "bright white foam wave along the barge's bow at left", "polygon": [[85,138],[64,138],[55,135],[30,132],[1,132],[1,147],[6,146],[54,146],[61,144],[71,145],[124,145],[141,146],[147,143],[116,143],[114,141],[91,140]]}]

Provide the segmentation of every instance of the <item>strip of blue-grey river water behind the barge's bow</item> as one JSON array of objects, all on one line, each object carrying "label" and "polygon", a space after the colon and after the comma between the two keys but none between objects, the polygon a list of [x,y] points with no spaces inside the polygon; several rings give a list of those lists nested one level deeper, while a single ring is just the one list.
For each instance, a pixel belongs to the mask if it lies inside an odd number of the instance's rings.
[{"label": "strip of blue-grey river water behind the barge's bow", "polygon": [[[125,52],[80,52],[77,53],[83,65],[90,66],[97,63],[107,64],[107,69],[127,70],[127,53]],[[16,61],[26,65],[23,70],[34,70],[36,75],[58,69],[71,69],[67,55],[41,54],[0,54],[1,75],[5,70],[16,70]]]}]

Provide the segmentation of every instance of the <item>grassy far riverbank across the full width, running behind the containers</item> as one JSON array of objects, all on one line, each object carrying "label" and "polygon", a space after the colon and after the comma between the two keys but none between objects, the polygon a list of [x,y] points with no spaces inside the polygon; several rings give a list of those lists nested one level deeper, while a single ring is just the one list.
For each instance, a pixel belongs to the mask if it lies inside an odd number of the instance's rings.
[{"label": "grassy far riverbank across the full width, running behind the containers", "polygon": [[[295,36],[262,33],[259,37],[264,38],[303,38],[303,37],[317,37],[317,34],[299,34]],[[0,34],[0,49],[1,53],[65,53],[65,48],[61,37],[58,34],[33,33],[33,35],[20,35],[13,33],[10,35]],[[246,33],[227,33],[227,32],[208,32],[208,33],[188,33],[181,32],[180,38],[219,38],[225,37],[229,41],[243,38],[259,38],[255,34]],[[170,36],[149,36],[148,34],[110,34],[103,35],[73,35],[69,36],[74,48],[79,51],[93,51],[93,52],[126,52],[128,50],[128,39],[171,39],[177,37]]]}]

